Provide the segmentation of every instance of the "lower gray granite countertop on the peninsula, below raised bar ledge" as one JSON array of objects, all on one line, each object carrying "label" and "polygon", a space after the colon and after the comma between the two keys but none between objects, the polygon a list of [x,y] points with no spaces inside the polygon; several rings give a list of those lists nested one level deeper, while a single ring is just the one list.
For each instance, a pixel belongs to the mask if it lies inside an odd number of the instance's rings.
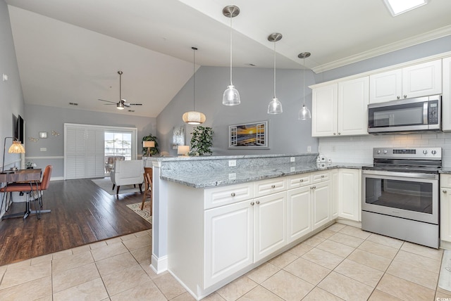
[{"label": "lower gray granite countertop on the peninsula, below raised bar ledge", "polygon": [[209,188],[272,179],[293,174],[303,174],[306,172],[318,172],[334,168],[360,169],[363,165],[364,164],[324,162],[315,165],[281,165],[276,167],[268,166],[259,169],[228,167],[203,173],[180,173],[166,177],[161,175],[161,179],[194,188]]}]

